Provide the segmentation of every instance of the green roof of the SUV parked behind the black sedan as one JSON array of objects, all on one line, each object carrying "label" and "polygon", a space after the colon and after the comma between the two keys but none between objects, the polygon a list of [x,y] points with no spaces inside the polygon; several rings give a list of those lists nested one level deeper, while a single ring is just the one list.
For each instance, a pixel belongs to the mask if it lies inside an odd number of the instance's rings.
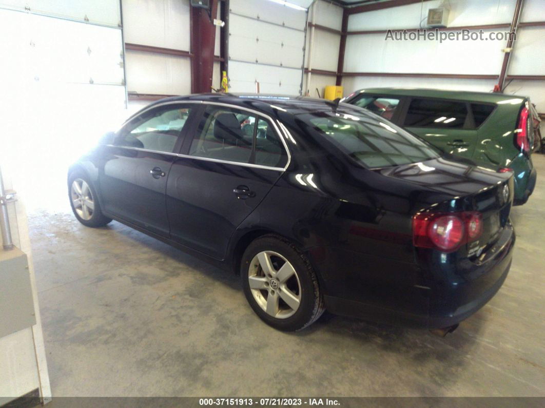
[{"label": "green roof of the SUV parked behind the black sedan", "polygon": [[[447,90],[447,89],[429,89],[429,88],[365,88],[354,92],[383,94],[383,95],[398,95],[398,96],[423,96],[425,98],[443,98],[454,99],[461,101],[489,102],[498,103],[511,99],[526,99],[526,96],[510,95],[503,93],[487,93],[487,92],[470,92],[465,90]],[[522,102],[522,101],[520,101]]]}]

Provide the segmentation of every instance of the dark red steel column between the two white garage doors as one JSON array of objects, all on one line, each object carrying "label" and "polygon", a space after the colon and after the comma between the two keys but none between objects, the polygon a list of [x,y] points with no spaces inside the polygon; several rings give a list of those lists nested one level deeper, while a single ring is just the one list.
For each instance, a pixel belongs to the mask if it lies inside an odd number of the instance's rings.
[{"label": "dark red steel column between the two white garage doors", "polygon": [[214,71],[214,45],[217,0],[210,9],[191,7],[191,93],[211,92]]}]

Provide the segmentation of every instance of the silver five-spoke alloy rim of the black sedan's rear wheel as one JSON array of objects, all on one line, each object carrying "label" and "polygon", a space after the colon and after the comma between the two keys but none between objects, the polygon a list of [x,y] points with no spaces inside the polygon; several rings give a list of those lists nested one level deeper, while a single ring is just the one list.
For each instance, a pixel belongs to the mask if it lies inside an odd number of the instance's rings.
[{"label": "silver five-spoke alloy rim of the black sedan's rear wheel", "polygon": [[248,270],[253,299],[276,319],[292,316],[301,303],[301,283],[295,268],[281,254],[262,251],[253,257]]}]

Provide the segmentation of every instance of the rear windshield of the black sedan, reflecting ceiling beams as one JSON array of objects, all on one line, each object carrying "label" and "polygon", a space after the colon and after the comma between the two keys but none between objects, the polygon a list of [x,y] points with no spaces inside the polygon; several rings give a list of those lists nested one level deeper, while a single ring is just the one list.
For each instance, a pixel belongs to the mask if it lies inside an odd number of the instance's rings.
[{"label": "rear windshield of the black sedan, reflecting ceiling beams", "polygon": [[439,156],[439,150],[387,120],[356,110],[298,115],[367,168],[400,166]]}]

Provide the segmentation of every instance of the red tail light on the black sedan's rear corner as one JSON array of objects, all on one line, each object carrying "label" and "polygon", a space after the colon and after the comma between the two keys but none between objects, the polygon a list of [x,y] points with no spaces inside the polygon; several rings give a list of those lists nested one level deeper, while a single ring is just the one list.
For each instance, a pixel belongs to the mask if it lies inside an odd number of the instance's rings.
[{"label": "red tail light on the black sedan's rear corner", "polygon": [[415,247],[456,251],[482,234],[482,215],[477,211],[421,212],[413,216]]}]

